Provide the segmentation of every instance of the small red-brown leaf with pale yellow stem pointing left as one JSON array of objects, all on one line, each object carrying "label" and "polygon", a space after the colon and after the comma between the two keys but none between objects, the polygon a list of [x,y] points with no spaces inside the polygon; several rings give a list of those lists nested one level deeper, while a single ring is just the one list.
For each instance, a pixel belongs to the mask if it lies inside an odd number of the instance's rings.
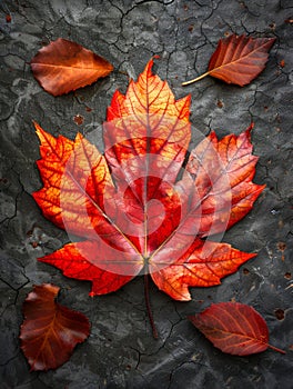
[{"label": "small red-brown leaf with pale yellow stem pointing left", "polygon": [[255,79],[264,69],[269,50],[275,38],[249,38],[232,34],[220,39],[209,63],[209,70],[202,76],[183,82],[188,86],[206,76],[215,77],[226,83],[243,87]]}]

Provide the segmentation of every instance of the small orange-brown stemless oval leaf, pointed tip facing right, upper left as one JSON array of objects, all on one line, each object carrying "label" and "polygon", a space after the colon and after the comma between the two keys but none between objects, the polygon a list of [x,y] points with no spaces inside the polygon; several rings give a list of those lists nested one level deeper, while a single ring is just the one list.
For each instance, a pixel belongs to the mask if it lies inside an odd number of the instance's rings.
[{"label": "small orange-brown stemless oval leaf, pointed tip facing right, upper left", "polygon": [[102,57],[62,38],[42,48],[30,64],[36,79],[53,96],[91,84],[113,70]]}]

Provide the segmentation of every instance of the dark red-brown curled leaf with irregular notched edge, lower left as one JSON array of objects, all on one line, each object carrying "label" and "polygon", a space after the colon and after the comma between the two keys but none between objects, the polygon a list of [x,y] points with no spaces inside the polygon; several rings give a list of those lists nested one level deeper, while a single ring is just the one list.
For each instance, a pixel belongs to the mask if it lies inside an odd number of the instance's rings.
[{"label": "dark red-brown curled leaf with irregular notched edge, lower left", "polygon": [[89,336],[87,317],[54,301],[59,290],[51,283],[34,286],[23,302],[21,349],[34,371],[57,369]]}]

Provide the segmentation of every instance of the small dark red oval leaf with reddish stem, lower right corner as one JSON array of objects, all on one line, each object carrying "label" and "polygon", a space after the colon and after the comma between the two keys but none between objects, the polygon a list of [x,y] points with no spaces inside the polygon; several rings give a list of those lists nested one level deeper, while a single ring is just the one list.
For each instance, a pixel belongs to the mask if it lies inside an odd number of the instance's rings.
[{"label": "small dark red oval leaf with reddish stem, lower right corner", "polygon": [[249,356],[271,349],[265,320],[252,307],[240,302],[219,302],[188,318],[221,351]]}]

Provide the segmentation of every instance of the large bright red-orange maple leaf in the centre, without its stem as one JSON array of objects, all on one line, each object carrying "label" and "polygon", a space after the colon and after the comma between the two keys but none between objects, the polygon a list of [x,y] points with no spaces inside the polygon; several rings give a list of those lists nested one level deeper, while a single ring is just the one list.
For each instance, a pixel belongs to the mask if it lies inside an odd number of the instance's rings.
[{"label": "large bright red-orange maple leaf in the centre, without its stem", "polygon": [[[81,241],[40,258],[67,277],[91,280],[91,295],[118,290],[139,273],[173,299],[219,285],[254,257],[212,241],[242,219],[264,186],[250,130],[188,152],[190,97],[175,100],[151,60],[125,96],[117,91],[103,126],[105,151],[80,133],[52,137],[36,123],[43,215]],[[80,239],[79,239],[80,240]]]}]

